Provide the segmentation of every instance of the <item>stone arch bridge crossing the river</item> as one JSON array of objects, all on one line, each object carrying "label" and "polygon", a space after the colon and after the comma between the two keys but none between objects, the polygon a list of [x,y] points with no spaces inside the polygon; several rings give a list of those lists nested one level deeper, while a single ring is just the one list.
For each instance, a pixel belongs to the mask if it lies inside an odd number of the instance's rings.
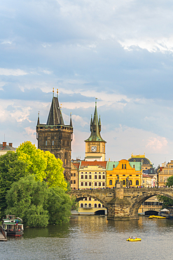
[{"label": "stone arch bridge crossing the river", "polygon": [[76,201],[84,197],[99,200],[108,211],[107,219],[139,219],[138,209],[149,197],[163,195],[173,200],[173,188],[111,188],[72,190]]}]

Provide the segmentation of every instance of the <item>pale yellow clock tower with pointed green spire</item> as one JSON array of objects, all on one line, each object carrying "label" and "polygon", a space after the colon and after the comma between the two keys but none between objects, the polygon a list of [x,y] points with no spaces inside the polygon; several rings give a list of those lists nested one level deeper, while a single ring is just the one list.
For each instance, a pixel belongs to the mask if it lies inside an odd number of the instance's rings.
[{"label": "pale yellow clock tower with pointed green spire", "polygon": [[97,115],[97,102],[95,102],[95,114],[90,122],[90,137],[85,140],[85,161],[105,161],[105,144],[100,135],[101,119]]}]

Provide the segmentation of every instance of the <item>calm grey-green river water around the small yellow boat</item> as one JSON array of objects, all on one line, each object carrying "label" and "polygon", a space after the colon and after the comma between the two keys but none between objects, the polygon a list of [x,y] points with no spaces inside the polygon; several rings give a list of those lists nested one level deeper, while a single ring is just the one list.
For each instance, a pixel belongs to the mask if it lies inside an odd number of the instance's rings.
[{"label": "calm grey-green river water around the small yellow boat", "polygon": [[[129,236],[141,242],[127,242]],[[69,223],[25,228],[22,238],[0,242],[0,259],[173,259],[173,220],[107,221],[72,216]]]}]

